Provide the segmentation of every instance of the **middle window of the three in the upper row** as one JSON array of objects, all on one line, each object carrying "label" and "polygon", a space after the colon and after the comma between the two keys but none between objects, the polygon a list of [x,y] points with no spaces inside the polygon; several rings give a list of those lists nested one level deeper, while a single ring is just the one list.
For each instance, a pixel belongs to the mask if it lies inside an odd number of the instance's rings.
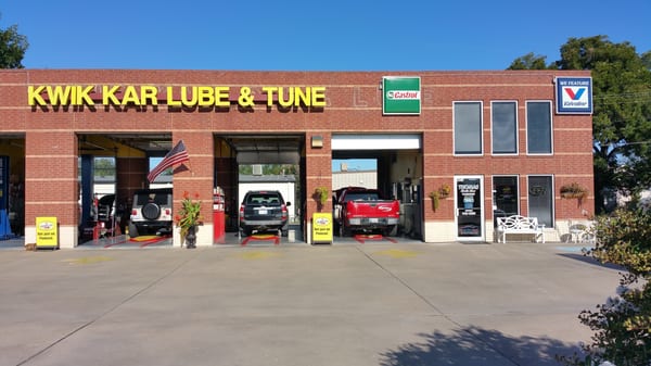
[{"label": "middle window of the three in the upper row", "polygon": [[493,102],[493,153],[518,153],[518,104],[515,102]]}]

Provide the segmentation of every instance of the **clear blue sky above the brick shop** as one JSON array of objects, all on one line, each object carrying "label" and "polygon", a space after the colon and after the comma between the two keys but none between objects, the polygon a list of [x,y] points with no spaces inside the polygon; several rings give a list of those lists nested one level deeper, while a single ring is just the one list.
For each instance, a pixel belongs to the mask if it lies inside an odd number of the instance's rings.
[{"label": "clear blue sky above the brick shop", "polygon": [[23,1],[28,68],[503,70],[570,37],[651,50],[651,1]]}]

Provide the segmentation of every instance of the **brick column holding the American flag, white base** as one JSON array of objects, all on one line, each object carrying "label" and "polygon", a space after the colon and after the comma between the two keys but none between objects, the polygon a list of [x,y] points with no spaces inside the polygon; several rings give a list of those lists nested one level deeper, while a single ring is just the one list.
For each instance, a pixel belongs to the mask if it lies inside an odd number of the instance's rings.
[{"label": "brick column holding the American flag, white base", "polygon": [[[171,144],[183,140],[189,161],[174,167],[174,215],[181,209],[184,192],[201,201],[203,225],[196,231],[196,245],[213,245],[213,186],[215,169],[215,149],[213,134],[201,129],[178,130],[173,132]],[[174,226],[174,245],[181,247],[180,228]]]}]

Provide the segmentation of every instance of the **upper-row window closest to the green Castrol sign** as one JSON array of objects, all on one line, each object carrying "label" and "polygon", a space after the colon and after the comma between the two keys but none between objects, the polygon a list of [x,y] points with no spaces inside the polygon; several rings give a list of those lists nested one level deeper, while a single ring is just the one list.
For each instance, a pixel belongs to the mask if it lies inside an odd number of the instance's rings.
[{"label": "upper-row window closest to the green Castrol sign", "polygon": [[482,153],[482,103],[455,102],[455,154]]}]

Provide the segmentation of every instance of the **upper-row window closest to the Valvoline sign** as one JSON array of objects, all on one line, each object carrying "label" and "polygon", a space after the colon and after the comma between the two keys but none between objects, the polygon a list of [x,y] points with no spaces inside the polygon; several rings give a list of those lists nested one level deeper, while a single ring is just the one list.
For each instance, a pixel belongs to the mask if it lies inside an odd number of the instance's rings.
[{"label": "upper-row window closest to the Valvoline sign", "polygon": [[529,154],[551,154],[551,102],[526,102],[526,149]]}]

